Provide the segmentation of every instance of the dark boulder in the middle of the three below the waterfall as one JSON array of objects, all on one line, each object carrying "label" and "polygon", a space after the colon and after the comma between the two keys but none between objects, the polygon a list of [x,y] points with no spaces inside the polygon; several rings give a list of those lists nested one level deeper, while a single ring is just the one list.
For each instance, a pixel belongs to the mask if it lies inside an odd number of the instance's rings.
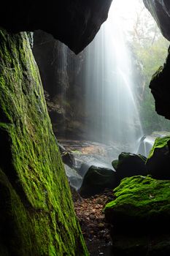
[{"label": "dark boulder in the middle of the three below the waterfall", "polygon": [[117,185],[123,178],[146,175],[146,157],[141,154],[131,154],[122,152],[117,160],[112,161],[112,166],[116,170]]}]

